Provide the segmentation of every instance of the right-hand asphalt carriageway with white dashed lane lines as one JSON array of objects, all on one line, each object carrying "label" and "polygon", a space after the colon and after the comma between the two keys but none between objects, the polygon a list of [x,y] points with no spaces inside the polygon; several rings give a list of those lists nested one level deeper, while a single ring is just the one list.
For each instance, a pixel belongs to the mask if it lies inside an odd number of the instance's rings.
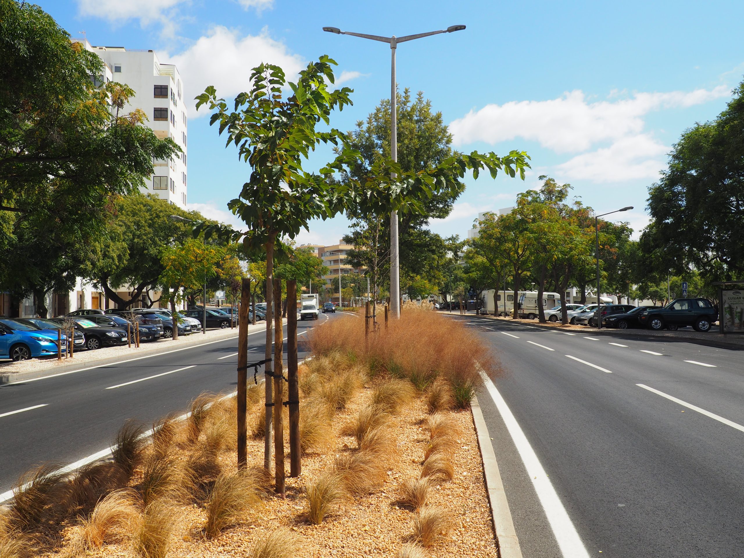
[{"label": "right-hand asphalt carriageway with white dashed lane lines", "polygon": [[493,347],[544,469],[482,389],[525,558],[744,556],[744,351],[455,319]]}]

